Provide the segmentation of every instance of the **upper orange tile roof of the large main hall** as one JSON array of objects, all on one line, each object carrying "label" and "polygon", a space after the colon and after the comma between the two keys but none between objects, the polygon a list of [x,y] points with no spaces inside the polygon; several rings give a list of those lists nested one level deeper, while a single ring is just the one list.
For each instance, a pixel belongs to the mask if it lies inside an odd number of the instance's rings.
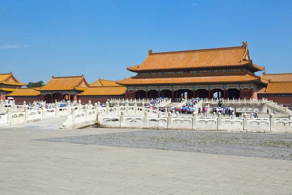
[{"label": "upper orange tile roof of the large main hall", "polygon": [[249,58],[247,43],[238,47],[215,49],[188,50],[176,52],[152,53],[149,50],[145,61],[136,66],[127,67],[132,72],[251,66],[255,71],[264,70],[264,67],[253,64]]}]

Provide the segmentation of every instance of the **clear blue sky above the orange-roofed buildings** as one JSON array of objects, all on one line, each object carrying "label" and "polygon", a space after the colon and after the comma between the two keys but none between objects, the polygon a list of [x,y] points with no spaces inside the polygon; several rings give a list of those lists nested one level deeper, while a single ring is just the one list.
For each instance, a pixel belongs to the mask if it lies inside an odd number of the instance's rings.
[{"label": "clear blue sky above the orange-roofed buildings", "polygon": [[[153,52],[239,46],[292,73],[291,0],[0,0],[1,73],[119,80]],[[257,73],[260,75],[261,73]]]}]

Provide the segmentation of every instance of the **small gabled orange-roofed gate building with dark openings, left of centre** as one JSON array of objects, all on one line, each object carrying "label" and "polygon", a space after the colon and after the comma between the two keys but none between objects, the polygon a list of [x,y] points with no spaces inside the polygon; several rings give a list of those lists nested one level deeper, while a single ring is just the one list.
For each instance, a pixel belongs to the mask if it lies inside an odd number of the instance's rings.
[{"label": "small gabled orange-roofed gate building with dark openings, left of centre", "polygon": [[88,88],[84,76],[52,77],[47,84],[36,89],[40,92],[41,100],[55,102],[55,100],[77,101],[77,94]]}]

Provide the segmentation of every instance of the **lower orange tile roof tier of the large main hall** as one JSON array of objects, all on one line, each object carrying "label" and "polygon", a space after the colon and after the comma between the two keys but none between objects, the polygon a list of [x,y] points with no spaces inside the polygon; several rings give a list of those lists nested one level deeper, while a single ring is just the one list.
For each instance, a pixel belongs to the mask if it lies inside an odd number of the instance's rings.
[{"label": "lower orange tile roof tier of the large main hall", "polygon": [[197,74],[173,74],[173,75],[137,75],[131,78],[117,81],[121,85],[155,85],[155,84],[195,84],[195,83],[226,83],[226,82],[251,82],[267,83],[260,77],[247,71],[224,73],[197,73]]}]

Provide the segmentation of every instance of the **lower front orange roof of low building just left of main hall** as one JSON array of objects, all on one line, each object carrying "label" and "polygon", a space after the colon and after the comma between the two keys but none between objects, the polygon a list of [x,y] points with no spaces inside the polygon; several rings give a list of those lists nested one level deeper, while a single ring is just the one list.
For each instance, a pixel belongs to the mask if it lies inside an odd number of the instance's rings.
[{"label": "lower front orange roof of low building just left of main hall", "polygon": [[120,96],[126,93],[124,86],[92,87],[90,86],[78,96]]}]

